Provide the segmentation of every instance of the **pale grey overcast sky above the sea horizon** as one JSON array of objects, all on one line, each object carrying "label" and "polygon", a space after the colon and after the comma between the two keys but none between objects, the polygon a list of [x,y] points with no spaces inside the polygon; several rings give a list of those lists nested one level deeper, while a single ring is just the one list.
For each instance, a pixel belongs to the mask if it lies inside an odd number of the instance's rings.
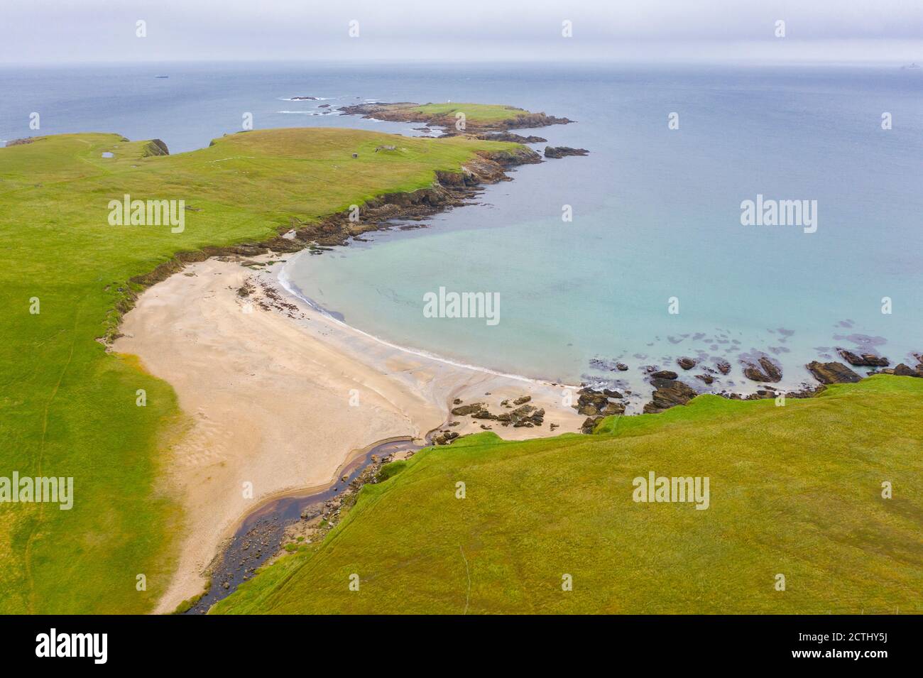
[{"label": "pale grey overcast sky above the sea horizon", "polygon": [[[776,21],[785,38],[776,38]],[[137,22],[147,37],[138,38]],[[350,37],[350,21],[358,37]],[[562,22],[572,37],[562,37]],[[2,0],[0,62],[923,63],[923,0]]]}]

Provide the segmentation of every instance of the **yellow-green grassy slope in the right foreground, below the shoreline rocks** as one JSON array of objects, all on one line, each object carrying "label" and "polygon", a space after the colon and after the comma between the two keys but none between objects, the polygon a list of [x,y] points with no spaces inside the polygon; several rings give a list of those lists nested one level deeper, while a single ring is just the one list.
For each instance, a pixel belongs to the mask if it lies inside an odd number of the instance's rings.
[{"label": "yellow-green grassy slope in the right foreground, below the shoreline rocks", "polygon": [[[878,376],[784,408],[703,396],[593,436],[479,434],[366,486],[315,552],[214,612],[920,612],[921,417],[923,379]],[[711,507],[633,503],[649,470],[709,476]]]}]

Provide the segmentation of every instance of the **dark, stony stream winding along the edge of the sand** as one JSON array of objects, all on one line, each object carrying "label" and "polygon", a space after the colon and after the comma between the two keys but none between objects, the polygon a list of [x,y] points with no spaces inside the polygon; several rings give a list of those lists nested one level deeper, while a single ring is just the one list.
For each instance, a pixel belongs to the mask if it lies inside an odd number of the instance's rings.
[{"label": "dark, stony stream winding along the edge of the sand", "polygon": [[415,452],[425,446],[413,440],[379,443],[339,470],[337,481],[329,488],[278,497],[247,514],[222,554],[216,558],[218,564],[211,568],[210,589],[184,614],[208,613],[217,601],[234,593],[238,586],[254,576],[260,565],[282,550],[286,528],[299,520],[323,515],[325,503],[345,492],[350,483],[373,463],[373,457],[380,460],[399,452]]}]

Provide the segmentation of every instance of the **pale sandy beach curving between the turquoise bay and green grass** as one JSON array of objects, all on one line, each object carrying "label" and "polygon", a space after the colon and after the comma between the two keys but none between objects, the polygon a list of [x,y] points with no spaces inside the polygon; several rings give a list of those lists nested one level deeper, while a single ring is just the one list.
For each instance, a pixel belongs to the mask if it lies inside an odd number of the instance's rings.
[{"label": "pale sandy beach curving between the turquoise bay and green grass", "polygon": [[576,432],[584,419],[559,385],[404,351],[318,313],[279,284],[277,256],[263,260],[276,263],[187,266],[138,298],[113,345],[169,382],[189,418],[169,452],[185,529],[157,613],[204,589],[222,541],[268,499],[329,486],[378,441],[422,440],[451,419],[459,423],[446,430],[480,432],[484,422],[450,415],[456,399],[503,411],[502,400],[530,396],[545,409],[533,428],[486,422],[507,439],[548,435],[551,423]]}]

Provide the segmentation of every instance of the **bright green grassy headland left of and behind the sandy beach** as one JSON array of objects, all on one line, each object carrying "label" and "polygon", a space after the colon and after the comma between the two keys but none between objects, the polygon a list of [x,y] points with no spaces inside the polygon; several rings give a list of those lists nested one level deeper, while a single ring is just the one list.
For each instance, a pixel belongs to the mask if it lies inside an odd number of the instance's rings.
[{"label": "bright green grassy headland left of and behind the sandy beach", "polygon": [[[399,152],[373,152],[395,140]],[[179,425],[174,394],[95,340],[117,322],[126,280],[177,251],[263,239],[293,216],[425,186],[473,149],[510,146],[284,129],[169,157],[103,134],[0,149],[0,475],[73,476],[76,495],[70,511],[0,505],[0,613],[144,612],[164,589],[176,509],[156,486]],[[126,193],[200,211],[186,212],[183,233],[110,226],[107,203]]]}]

